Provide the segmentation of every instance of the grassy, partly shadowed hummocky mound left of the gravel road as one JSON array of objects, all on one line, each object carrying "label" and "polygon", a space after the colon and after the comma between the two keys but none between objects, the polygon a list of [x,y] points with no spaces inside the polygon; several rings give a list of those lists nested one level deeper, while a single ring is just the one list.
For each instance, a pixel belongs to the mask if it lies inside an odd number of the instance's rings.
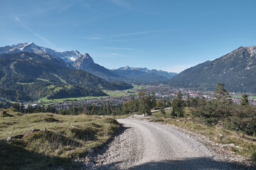
[{"label": "grassy, partly shadowed hummocky mound left of the gravel road", "polygon": [[[119,131],[119,123],[108,117],[22,114],[0,111],[0,169],[47,169],[68,166],[73,159],[100,148]],[[31,130],[40,131],[31,131]],[[24,135],[25,134],[25,135]],[[21,139],[6,139],[23,135]],[[74,165],[75,166],[75,165]]]}]

